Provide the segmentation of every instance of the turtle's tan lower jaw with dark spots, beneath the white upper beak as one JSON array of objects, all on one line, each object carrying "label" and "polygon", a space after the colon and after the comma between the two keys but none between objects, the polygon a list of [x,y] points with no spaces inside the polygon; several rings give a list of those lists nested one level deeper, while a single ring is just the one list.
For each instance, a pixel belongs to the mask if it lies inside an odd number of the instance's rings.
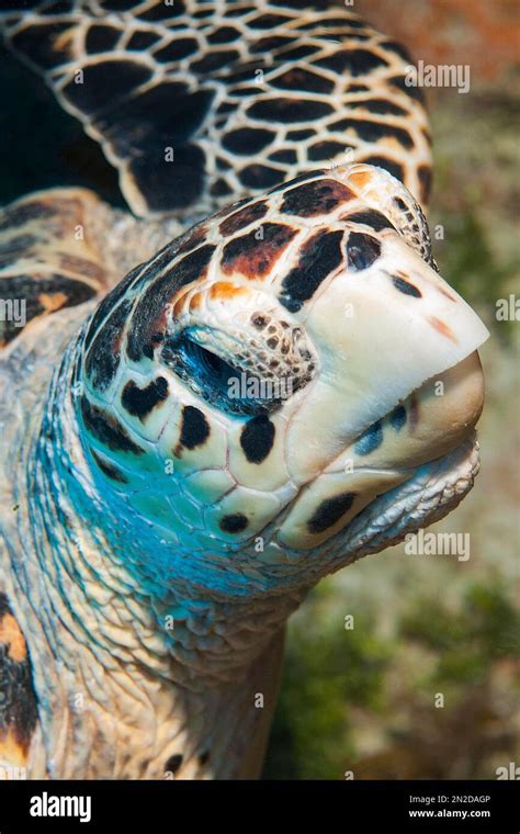
[{"label": "turtle's tan lower jaw with dark spots, beneath the white upper beak", "polygon": [[416,388],[309,481],[281,526],[281,543],[299,551],[334,546],[382,496],[414,489],[420,473],[449,463],[468,439],[473,446],[483,404],[484,376],[474,351]]}]

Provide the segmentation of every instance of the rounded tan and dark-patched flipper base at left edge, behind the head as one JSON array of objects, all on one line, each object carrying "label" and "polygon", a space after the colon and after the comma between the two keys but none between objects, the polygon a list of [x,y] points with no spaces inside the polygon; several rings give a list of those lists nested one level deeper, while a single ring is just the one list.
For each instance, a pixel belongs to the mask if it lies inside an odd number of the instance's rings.
[{"label": "rounded tan and dark-patched flipper base at left edge, behind the head", "polygon": [[103,208],[90,191],[53,189],[0,211],[0,348],[31,320],[90,301],[115,282],[94,244]]}]

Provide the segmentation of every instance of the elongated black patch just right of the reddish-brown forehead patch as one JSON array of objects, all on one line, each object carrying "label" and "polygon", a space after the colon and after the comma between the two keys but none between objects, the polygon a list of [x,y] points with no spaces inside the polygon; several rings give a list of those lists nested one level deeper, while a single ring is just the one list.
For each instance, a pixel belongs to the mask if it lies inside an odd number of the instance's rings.
[{"label": "elongated black patch just right of the reddish-brown forehead patch", "polygon": [[302,247],[296,267],[282,281],[280,302],[292,313],[312,298],[342,262],[342,232],[318,232]]}]

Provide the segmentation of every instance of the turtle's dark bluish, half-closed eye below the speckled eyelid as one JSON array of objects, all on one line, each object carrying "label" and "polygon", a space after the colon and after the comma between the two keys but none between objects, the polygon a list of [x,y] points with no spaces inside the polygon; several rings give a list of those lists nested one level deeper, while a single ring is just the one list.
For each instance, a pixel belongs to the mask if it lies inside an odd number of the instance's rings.
[{"label": "turtle's dark bluish, half-closed eye below the speckled eyelid", "polygon": [[202,347],[191,338],[189,330],[169,340],[161,356],[192,391],[224,412],[259,415],[280,406],[275,385],[267,384],[249,369],[233,365]]}]

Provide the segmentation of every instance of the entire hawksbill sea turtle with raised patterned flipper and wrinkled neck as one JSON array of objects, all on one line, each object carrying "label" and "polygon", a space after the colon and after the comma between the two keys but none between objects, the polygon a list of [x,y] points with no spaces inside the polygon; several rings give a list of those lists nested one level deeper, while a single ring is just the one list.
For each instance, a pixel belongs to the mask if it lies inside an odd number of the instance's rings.
[{"label": "entire hawksbill sea turtle with raised patterned flipper and wrinkled neck", "polygon": [[409,58],[306,0],[2,22],[133,212],[0,215],[3,771],[257,775],[289,615],[478,469],[487,331],[431,257]]}]

